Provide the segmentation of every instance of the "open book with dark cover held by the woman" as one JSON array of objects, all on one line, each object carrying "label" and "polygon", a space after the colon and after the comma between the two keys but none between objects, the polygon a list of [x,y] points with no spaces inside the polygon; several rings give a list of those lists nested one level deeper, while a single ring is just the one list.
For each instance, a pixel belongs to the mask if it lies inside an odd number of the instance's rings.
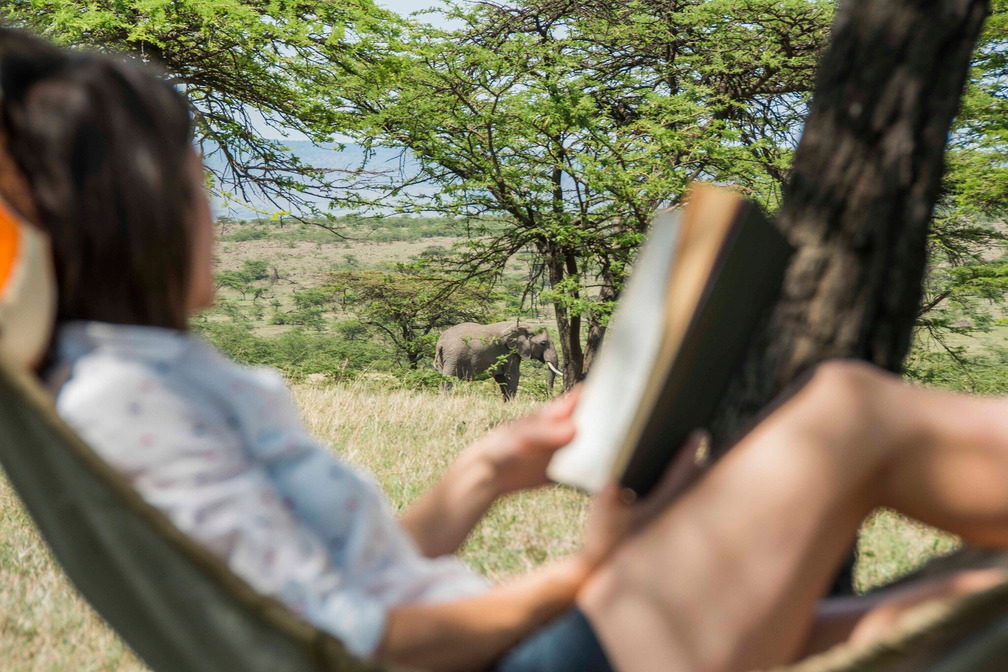
[{"label": "open book with dark cover held by the woman", "polygon": [[582,390],[578,435],[549,477],[646,495],[712,420],[791,252],[756,204],[727,189],[695,186],[684,208],[659,213]]}]

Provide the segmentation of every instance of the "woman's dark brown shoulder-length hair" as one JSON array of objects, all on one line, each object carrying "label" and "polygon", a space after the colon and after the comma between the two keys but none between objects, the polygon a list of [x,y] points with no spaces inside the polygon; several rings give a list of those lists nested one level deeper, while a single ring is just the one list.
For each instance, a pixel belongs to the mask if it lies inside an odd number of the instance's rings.
[{"label": "woman's dark brown shoulder-length hair", "polygon": [[0,127],[52,237],[57,319],[184,328],[182,96],[147,68],[0,27]]}]

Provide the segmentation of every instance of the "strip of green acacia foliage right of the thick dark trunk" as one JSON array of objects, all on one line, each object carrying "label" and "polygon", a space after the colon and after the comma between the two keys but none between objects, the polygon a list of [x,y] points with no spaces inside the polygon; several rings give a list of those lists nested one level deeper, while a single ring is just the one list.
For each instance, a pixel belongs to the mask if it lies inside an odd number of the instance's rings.
[{"label": "strip of green acacia foliage right of the thick dark trunk", "polygon": [[930,268],[917,315],[912,378],[952,363],[970,387],[981,362],[964,337],[985,333],[1008,294],[1008,2],[994,0],[976,49],[946,153],[946,173],[929,231]]}]

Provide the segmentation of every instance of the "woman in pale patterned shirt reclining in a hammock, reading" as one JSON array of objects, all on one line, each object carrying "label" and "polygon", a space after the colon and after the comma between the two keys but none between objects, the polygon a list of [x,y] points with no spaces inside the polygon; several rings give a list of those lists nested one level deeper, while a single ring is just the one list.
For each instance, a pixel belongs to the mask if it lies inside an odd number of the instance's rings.
[{"label": "woman in pale patterned shirt reclining in a hammock, reading", "polygon": [[187,331],[213,300],[213,223],[178,93],[6,29],[0,91],[0,195],[53,245],[57,410],[180,530],[359,656],[741,671],[877,637],[921,600],[1001,579],[820,603],[875,506],[1008,547],[1008,402],[836,363],[709,474],[680,459],[634,507],[609,488],[579,552],[488,585],[452,554],[496,498],[545,484],[575,397],[489,434],[396,520],[308,435],[277,374]]}]

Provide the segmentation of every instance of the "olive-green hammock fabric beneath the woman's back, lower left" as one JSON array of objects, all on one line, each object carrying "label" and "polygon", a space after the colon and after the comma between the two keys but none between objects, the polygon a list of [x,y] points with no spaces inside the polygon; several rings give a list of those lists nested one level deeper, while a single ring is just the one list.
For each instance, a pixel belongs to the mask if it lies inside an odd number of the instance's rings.
[{"label": "olive-green hammock fabric beneath the woman's back, lower left", "polygon": [[143,502],[0,365],[0,464],[84,596],[157,672],[367,672]]}]

